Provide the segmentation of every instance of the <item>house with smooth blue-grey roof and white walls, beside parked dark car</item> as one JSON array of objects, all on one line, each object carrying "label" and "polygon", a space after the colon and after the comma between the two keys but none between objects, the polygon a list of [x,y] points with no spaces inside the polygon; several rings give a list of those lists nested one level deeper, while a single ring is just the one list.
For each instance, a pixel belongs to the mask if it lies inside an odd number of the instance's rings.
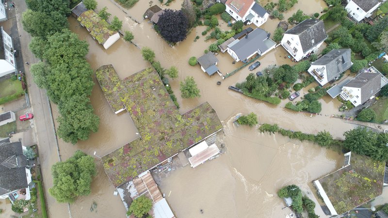
[{"label": "house with smooth blue-grey roof and white walls, beside parked dark car", "polygon": [[258,54],[260,56],[274,49],[276,43],[270,39],[270,33],[256,28],[242,39],[236,39],[227,46],[227,53],[237,62],[246,62]]}]

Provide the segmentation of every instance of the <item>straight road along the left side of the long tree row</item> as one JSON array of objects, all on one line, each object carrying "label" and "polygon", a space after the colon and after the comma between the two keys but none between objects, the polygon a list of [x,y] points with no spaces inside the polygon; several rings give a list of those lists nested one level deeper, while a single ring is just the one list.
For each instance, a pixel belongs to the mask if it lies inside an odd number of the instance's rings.
[{"label": "straight road along the left side of the long tree row", "polygon": [[[27,5],[24,0],[15,0],[16,5],[16,19],[17,27],[19,30],[20,44],[22,48],[22,55],[24,62],[36,63],[39,59],[35,58],[31,51],[28,49],[28,44],[31,41],[31,36],[23,30],[21,24],[21,14],[27,10]],[[39,89],[33,82],[32,75],[30,73],[31,65],[24,65],[25,75],[27,78],[29,97],[31,101],[32,113],[34,114],[34,131],[35,138],[38,144],[39,158],[41,163],[43,187],[45,190],[45,198],[47,202],[47,210],[50,217],[55,217],[54,214],[68,213],[66,204],[63,206],[55,207],[56,211],[50,211],[50,204],[58,203],[49,195],[48,189],[52,187],[51,166],[53,163],[59,161],[58,150],[56,146],[56,136],[53,130],[53,124],[51,122],[51,111],[49,109],[49,101],[46,91]],[[58,211],[58,208],[61,208]]]}]

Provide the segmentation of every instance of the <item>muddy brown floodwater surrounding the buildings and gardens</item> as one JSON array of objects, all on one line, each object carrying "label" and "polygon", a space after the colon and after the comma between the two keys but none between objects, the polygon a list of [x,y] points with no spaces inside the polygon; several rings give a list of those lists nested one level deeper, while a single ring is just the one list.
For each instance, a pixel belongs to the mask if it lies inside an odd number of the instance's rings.
[{"label": "muddy brown floodwater surrounding the buildings and gardens", "polygon": [[[167,198],[178,217],[196,217],[200,208],[204,209],[206,217],[281,217],[286,210],[281,210],[283,203],[276,197],[276,190],[283,185],[295,183],[306,194],[309,191],[311,180],[336,169],[338,160],[342,156],[331,150],[321,148],[310,143],[291,141],[278,135],[261,134],[255,128],[235,127],[230,124],[230,118],[237,113],[255,112],[260,123],[278,124],[282,128],[299,130],[307,133],[317,133],[322,130],[330,131],[335,138],[342,138],[342,133],[354,128],[342,120],[324,116],[336,112],[338,102],[324,98],[322,102],[323,115],[296,113],[284,108],[288,100],[283,100],[279,106],[270,105],[262,101],[245,97],[239,93],[229,91],[227,87],[241,82],[250,73],[247,67],[232,77],[222,80],[215,75],[207,76],[200,67],[190,66],[188,60],[192,56],[203,55],[204,50],[212,41],[205,42],[201,32],[206,27],[197,27],[191,31],[187,39],[170,47],[156,34],[148,20],[143,20],[143,14],[149,4],[141,0],[125,14],[110,0],[97,0],[97,10],[108,7],[109,13],[118,16],[124,21],[123,31],[132,31],[135,39],[133,42],[139,47],[151,47],[156,53],[156,60],[164,68],[172,65],[178,67],[178,78],[171,80],[171,86],[178,97],[180,112],[184,113],[199,104],[208,101],[217,111],[221,121],[225,124],[225,136],[221,136],[227,146],[225,155],[206,163],[193,170],[189,167],[171,173],[169,178],[162,181],[163,192],[172,190]],[[170,7],[178,9],[182,0],[174,0]],[[159,1],[154,3],[160,4]],[[311,6],[313,5],[314,6]],[[318,6],[316,6],[318,5]],[[302,8],[307,14],[318,12],[324,7],[323,0],[299,0],[286,18]],[[165,8],[165,7],[163,7]],[[136,23],[133,19],[140,22]],[[70,17],[70,30],[86,40],[89,44],[87,60],[96,70],[103,64],[112,63],[120,78],[126,78],[149,65],[142,58],[140,49],[120,39],[108,50],[97,44],[85,28]],[[278,20],[268,20],[261,28],[273,32]],[[255,26],[252,26],[255,28]],[[225,23],[221,29],[227,30]],[[200,39],[194,42],[195,36]],[[295,64],[288,58],[282,47],[277,47],[263,57],[260,57],[260,69],[268,65]],[[217,55],[218,67],[223,74],[231,72],[241,66],[241,62],[232,64],[233,59],[220,53]],[[187,76],[194,77],[201,90],[201,97],[197,99],[182,99],[179,93],[179,81]],[[114,114],[97,83],[91,96],[92,105],[100,117],[101,122],[97,133],[92,133],[90,139],[80,141],[76,145],[59,140],[62,159],[67,159],[80,149],[89,155],[96,151],[98,156],[104,156],[125,143],[136,139],[136,127],[133,125],[129,114],[122,112]],[[217,81],[222,81],[220,86]],[[315,87],[314,83],[311,87]],[[304,89],[303,92],[307,92]],[[58,109],[53,105],[54,117],[58,117]],[[55,123],[58,126],[57,123]],[[44,151],[42,151],[42,155]],[[97,177],[92,183],[92,193],[80,197],[71,204],[73,218],[85,217],[125,217],[125,207],[118,196],[113,196],[114,187],[110,183],[101,160],[96,156]],[[52,163],[53,164],[53,163]],[[49,188],[49,187],[46,187]],[[97,210],[91,212],[90,207],[95,201]],[[55,202],[47,196],[49,216],[55,218],[68,217],[65,204]],[[317,213],[322,211],[317,210]]]}]

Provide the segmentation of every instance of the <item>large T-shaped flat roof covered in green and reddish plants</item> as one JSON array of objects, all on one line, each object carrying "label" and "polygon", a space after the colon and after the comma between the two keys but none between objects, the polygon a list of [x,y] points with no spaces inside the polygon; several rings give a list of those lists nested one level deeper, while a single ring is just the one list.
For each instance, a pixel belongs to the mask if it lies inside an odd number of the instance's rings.
[{"label": "large T-shaped flat roof covered in green and reddish plants", "polygon": [[115,187],[222,129],[208,102],[179,114],[152,67],[123,80],[112,65],[100,67],[96,75],[113,110],[124,104],[141,136],[102,157]]}]

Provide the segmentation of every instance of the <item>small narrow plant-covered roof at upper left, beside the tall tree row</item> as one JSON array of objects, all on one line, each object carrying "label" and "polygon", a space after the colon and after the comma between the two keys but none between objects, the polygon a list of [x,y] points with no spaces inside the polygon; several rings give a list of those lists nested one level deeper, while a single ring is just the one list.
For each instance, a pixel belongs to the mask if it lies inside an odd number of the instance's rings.
[{"label": "small narrow plant-covered roof at upper left, beside the tall tree row", "polygon": [[93,10],[83,12],[78,17],[78,21],[90,31],[90,34],[95,37],[101,45],[104,45],[111,35],[117,33],[111,31],[109,29],[109,23],[99,17]]}]

